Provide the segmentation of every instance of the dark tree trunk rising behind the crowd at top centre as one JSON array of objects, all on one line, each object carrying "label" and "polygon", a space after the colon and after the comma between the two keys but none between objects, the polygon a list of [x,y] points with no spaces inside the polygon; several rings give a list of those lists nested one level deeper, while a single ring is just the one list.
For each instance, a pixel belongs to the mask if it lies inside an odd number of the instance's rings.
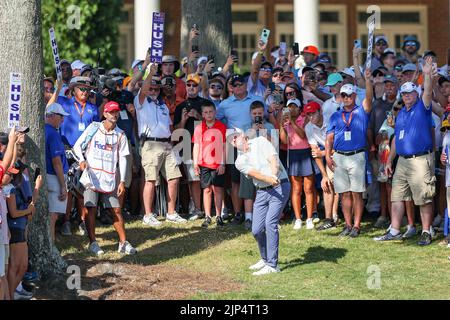
[{"label": "dark tree trunk rising behind the crowd at top centre", "polygon": [[196,23],[200,36],[194,44],[202,55],[214,55],[216,67],[223,66],[232,47],[231,0],[182,0],[181,57],[188,53],[189,32]]}]

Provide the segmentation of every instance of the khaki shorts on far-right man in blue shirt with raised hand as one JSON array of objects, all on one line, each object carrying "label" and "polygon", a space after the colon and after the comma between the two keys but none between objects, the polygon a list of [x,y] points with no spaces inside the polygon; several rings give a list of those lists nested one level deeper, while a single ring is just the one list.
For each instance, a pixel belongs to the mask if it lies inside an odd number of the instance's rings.
[{"label": "khaki shorts on far-right man in blue shirt with raised hand", "polygon": [[392,179],[391,201],[411,201],[422,206],[433,202],[436,194],[434,154],[417,158],[398,158]]}]

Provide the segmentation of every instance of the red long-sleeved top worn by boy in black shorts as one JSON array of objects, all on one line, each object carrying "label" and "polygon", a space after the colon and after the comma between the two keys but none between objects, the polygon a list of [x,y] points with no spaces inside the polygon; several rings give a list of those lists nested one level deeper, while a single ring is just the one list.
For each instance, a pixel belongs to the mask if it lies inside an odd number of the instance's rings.
[{"label": "red long-sleeved top worn by boy in black shorts", "polygon": [[198,165],[209,169],[217,169],[223,163],[223,149],[226,142],[227,127],[216,120],[211,128],[206,121],[195,127],[193,143],[198,143],[200,151]]}]

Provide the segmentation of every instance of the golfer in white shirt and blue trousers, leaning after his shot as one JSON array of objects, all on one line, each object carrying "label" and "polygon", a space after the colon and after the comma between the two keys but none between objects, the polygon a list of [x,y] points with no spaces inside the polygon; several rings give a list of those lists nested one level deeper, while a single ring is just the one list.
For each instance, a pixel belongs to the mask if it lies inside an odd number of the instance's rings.
[{"label": "golfer in white shirt and blue trousers, leaning after his shot", "polygon": [[250,270],[255,270],[255,276],[280,272],[278,222],[291,189],[286,170],[265,137],[249,140],[240,129],[234,129],[227,141],[239,152],[236,168],[253,178],[257,189],[252,233],[258,242],[261,260],[250,266]]}]

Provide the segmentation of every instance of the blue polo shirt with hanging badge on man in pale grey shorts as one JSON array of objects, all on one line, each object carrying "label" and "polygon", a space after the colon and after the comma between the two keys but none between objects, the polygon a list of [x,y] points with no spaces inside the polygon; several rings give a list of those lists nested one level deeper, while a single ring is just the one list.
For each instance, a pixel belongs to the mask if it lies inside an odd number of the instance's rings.
[{"label": "blue polo shirt with hanging badge on man in pale grey shorts", "polygon": [[[350,121],[351,114],[353,116]],[[350,122],[348,126],[342,119],[342,115],[344,115],[347,123]],[[327,134],[334,133],[333,149],[349,152],[365,148],[369,116],[370,114],[360,106],[355,106],[351,112],[341,109],[333,113],[327,127]],[[350,132],[350,134],[346,132]]]}]

